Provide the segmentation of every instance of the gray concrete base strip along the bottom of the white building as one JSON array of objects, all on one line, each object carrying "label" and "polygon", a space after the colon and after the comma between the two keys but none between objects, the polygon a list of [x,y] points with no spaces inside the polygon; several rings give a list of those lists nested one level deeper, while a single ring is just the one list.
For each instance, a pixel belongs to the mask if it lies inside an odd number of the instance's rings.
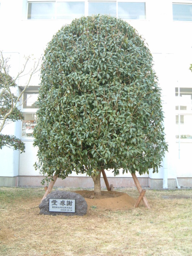
[{"label": "gray concrete base strip along the bottom of the white building", "polygon": [[[16,177],[0,177],[0,186],[42,186],[42,176],[16,176]],[[151,189],[162,189],[163,179],[151,179],[148,177],[138,177],[142,187]],[[108,177],[109,184],[114,187],[135,187],[132,177]],[[192,187],[192,178],[177,178],[179,186]],[[47,184],[45,184],[46,186]],[[93,187],[93,179],[91,177],[67,177],[65,180],[57,179],[56,187],[71,187],[71,188],[88,188]],[[101,178],[101,186],[105,187],[105,182]],[[177,183],[175,179],[168,180],[168,189],[175,189]]]}]

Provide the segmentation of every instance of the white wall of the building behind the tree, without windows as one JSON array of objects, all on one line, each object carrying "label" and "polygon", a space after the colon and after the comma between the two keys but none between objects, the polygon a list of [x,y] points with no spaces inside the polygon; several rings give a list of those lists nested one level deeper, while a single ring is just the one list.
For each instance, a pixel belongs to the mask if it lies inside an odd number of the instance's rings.
[{"label": "white wall of the building behind the tree, without windows", "polygon": [[[140,2],[140,0],[132,0],[132,2]],[[174,21],[171,0],[143,0],[143,2],[146,3],[146,19],[127,20],[127,22],[145,38],[154,57],[154,69],[162,88],[166,141],[169,144],[169,152],[166,154],[159,173],[153,174],[152,171],[149,171],[149,175],[145,174],[143,178],[148,179],[149,186],[162,187],[165,177],[170,180],[170,186],[175,186],[176,177],[178,180],[180,179],[180,182],[182,181],[182,186],[192,186],[190,159],[192,141],[182,141],[179,145],[175,139],[175,87],[192,88],[192,72],[189,70],[192,63],[192,21]],[[191,0],[176,0],[175,2],[192,4]],[[12,56],[13,52],[17,52],[17,55],[20,56],[17,67],[22,67],[24,55],[34,54],[35,57],[40,58],[52,36],[61,26],[70,22],[71,20],[67,19],[28,20],[27,0],[0,0],[0,50],[7,52],[6,54],[10,53]],[[20,80],[19,85],[23,85],[23,82],[24,80]],[[36,76],[30,85],[37,86],[38,83],[39,77]],[[15,131],[21,137],[19,125],[10,133],[15,134]],[[19,184],[22,186],[40,185],[42,177],[33,166],[37,160],[37,148],[33,148],[32,138],[23,138],[23,141],[26,143],[25,153],[19,154],[8,148],[3,148],[0,151],[0,176],[19,176]],[[111,172],[107,175],[113,177]],[[69,179],[71,180],[72,177],[76,179],[75,174],[71,175]],[[128,179],[131,175],[119,175],[118,178],[123,177],[127,178],[127,184],[130,184]],[[85,177],[81,177],[79,180],[82,178]],[[114,182],[118,178],[113,178]],[[153,183],[153,180],[156,180],[156,183]],[[172,180],[174,181],[171,182]],[[64,184],[67,186],[67,179]],[[79,186],[81,184],[79,181]],[[126,182],[122,184],[126,184]]]}]

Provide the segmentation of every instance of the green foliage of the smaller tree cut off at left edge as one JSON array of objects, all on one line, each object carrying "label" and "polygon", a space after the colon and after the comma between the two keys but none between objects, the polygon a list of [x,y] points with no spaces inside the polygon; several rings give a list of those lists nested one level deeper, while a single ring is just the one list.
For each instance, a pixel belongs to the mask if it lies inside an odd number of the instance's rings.
[{"label": "green foliage of the smaller tree cut off at left edge", "polygon": [[[1,63],[3,64],[2,59],[0,61],[0,132],[7,122],[15,122],[24,118],[18,108],[13,108],[17,96],[12,93],[12,89],[17,85],[12,77],[5,72],[6,70],[3,70]],[[19,149],[21,152],[25,149],[25,144],[15,136],[0,134],[0,149],[3,146]]]}]

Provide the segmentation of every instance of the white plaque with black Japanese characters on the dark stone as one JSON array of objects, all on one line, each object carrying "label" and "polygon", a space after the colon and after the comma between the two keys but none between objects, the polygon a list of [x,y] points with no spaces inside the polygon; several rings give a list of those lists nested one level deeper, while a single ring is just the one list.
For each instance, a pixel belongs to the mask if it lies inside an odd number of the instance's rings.
[{"label": "white plaque with black Japanese characters on the dark stone", "polygon": [[49,212],[76,212],[76,200],[49,198]]}]

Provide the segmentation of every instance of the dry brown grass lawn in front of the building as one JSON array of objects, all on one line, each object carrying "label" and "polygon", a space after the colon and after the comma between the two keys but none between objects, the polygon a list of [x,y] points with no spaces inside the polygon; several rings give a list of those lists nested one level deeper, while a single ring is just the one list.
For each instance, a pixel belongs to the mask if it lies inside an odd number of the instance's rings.
[{"label": "dry brown grass lawn in front of the building", "polygon": [[[69,190],[69,189],[63,189]],[[74,190],[74,189],[73,189]],[[136,189],[118,189],[137,198]],[[0,256],[192,255],[192,190],[148,189],[151,209],[39,215],[43,188],[0,188]]]}]

